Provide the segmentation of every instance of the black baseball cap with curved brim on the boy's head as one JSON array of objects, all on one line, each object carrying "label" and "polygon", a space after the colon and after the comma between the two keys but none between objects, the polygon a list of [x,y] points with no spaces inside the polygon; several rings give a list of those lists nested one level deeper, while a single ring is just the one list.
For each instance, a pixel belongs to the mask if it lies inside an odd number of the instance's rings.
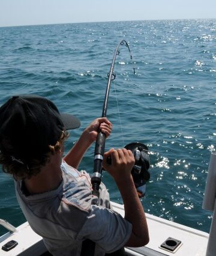
[{"label": "black baseball cap with curved brim on the boy's head", "polygon": [[37,95],[12,96],[0,107],[0,144],[9,141],[11,150],[22,158],[43,154],[58,142],[62,131],[79,126],[77,117],[59,113],[52,101]]}]

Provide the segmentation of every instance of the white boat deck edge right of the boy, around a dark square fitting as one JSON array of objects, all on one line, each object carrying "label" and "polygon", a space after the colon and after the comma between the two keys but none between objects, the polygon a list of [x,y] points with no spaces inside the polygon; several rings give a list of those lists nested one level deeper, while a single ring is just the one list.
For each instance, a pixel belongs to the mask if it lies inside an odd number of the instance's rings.
[{"label": "white boat deck edge right of the boy, around a dark square fitting", "polygon": [[[124,216],[124,208],[122,205],[112,202],[113,210],[118,211]],[[188,228],[188,226],[170,222],[160,217],[146,214],[149,238],[148,245],[144,248],[131,248],[133,251],[140,252],[137,255],[146,256],[205,256],[208,244],[209,234],[197,229]],[[175,251],[170,252],[160,248],[160,245],[169,237],[180,240],[181,245]],[[134,255],[134,254],[133,254]]]}]

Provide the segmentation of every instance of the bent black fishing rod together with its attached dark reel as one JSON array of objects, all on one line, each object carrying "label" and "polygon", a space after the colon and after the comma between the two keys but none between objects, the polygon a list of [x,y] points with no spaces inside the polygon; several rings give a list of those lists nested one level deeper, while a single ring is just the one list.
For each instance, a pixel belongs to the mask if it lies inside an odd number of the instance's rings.
[{"label": "bent black fishing rod together with its attached dark reel", "polygon": [[[103,111],[102,111],[101,117],[106,117],[110,84],[111,84],[111,81],[115,80],[116,78],[116,75],[113,72],[114,63],[116,60],[116,56],[119,55],[120,53],[119,47],[122,45],[125,45],[128,48],[128,51],[130,53],[130,58],[131,60],[133,60],[128,43],[125,40],[121,40],[121,42],[119,42],[117,48],[115,49],[112,64],[110,66],[110,72],[107,74],[108,81],[107,81],[107,88],[106,88],[106,94],[104,98]],[[136,72],[134,67],[133,67],[133,71],[135,74]],[[103,161],[103,154],[104,154],[104,148],[105,148],[105,141],[106,141],[106,135],[99,130],[96,143],[95,143],[94,172],[92,173],[92,178],[91,178],[92,189],[93,189],[92,195],[95,195],[98,198],[100,196],[99,187],[100,187],[101,176],[102,176],[102,161]],[[148,156],[148,147],[142,143],[135,142],[135,143],[130,143],[126,145],[125,148],[133,152],[133,155],[135,158],[135,164],[131,171],[131,174],[133,176],[134,184],[137,189],[137,194],[139,195],[140,198],[142,198],[145,195],[146,181],[148,181],[150,178],[150,174],[148,172],[148,169],[150,166],[149,156]]]}]

